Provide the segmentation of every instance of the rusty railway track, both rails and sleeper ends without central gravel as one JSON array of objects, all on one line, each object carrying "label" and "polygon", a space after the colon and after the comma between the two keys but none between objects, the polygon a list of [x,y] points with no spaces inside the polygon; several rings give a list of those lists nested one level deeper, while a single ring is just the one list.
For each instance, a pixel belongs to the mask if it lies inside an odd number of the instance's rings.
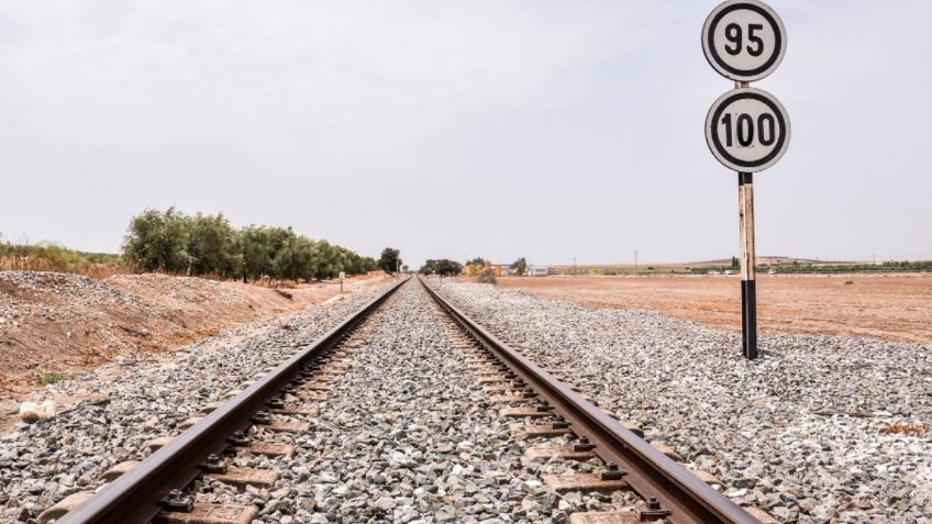
[{"label": "rusty railway track, both rails and sleeper ends without central gravel", "polygon": [[[319,406],[325,404],[329,391],[353,367],[354,354],[378,343],[371,339],[373,328],[379,323],[379,315],[390,309],[386,302],[406,283],[409,297],[431,297],[430,311],[440,321],[433,324],[442,326],[445,339],[453,346],[448,350],[455,352],[435,354],[433,358],[446,359],[455,368],[465,363],[471,372],[471,378],[465,380],[481,384],[487,406],[500,408],[499,421],[514,421],[514,439],[529,443],[522,464],[532,469],[542,460],[581,465],[568,467],[569,475],[540,476],[546,490],[555,493],[554,505],[570,505],[562,498],[570,492],[604,493],[601,500],[606,503],[590,505],[610,511],[575,511],[568,516],[556,512],[557,522],[761,522],[570,386],[488,333],[430,286],[421,281],[422,291],[411,280],[391,286],[281,365],[244,384],[241,391],[231,392],[225,403],[206,406],[202,419],[189,421],[190,427],[170,442],[153,444],[157,450],[141,462],[120,465],[106,473],[112,481],[98,492],[71,495],[46,511],[40,521],[252,522],[259,516],[256,506],[222,498],[219,502],[196,501],[198,492],[217,490],[218,482],[246,491],[276,487],[279,471],[268,467],[269,460],[256,457],[276,457],[279,469],[282,460],[295,460],[295,446],[288,443],[296,435],[312,432],[308,417],[323,409]],[[420,300],[426,302],[424,298]],[[423,319],[421,322],[431,323]],[[410,359],[411,355],[402,357]],[[542,517],[550,520],[548,515]],[[390,519],[381,514],[381,520]],[[525,514],[524,520],[535,519]]]}]

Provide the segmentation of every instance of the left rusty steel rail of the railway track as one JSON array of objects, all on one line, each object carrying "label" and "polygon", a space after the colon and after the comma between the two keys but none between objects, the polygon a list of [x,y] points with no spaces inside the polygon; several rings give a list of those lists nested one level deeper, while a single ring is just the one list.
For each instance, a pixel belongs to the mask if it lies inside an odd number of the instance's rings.
[{"label": "left rusty steel rail of the railway track", "polygon": [[314,358],[340,342],[371,314],[409,279],[401,280],[375,300],[359,308],[345,321],[289,357],[265,377],[211,412],[168,445],[135,468],[106,484],[97,494],[57,520],[58,524],[146,523],[162,511],[159,501],[171,489],[184,489],[202,475],[199,464],[210,454],[220,455],[230,444],[226,438],[246,430],[249,419],[266,408],[266,402],[310,366]]}]

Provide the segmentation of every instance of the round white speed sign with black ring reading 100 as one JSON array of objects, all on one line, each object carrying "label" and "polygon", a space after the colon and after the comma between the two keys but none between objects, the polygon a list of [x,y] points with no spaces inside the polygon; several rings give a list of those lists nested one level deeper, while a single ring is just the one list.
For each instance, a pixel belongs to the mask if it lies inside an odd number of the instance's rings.
[{"label": "round white speed sign with black ring reading 100", "polygon": [[763,171],[776,164],[789,146],[789,131],[783,104],[763,89],[733,89],[706,116],[709,149],[735,171]]}]

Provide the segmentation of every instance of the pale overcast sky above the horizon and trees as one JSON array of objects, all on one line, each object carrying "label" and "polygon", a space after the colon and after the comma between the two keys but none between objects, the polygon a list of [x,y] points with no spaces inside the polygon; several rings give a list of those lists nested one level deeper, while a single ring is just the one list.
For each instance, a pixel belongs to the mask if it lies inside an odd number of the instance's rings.
[{"label": "pale overcast sky above the horizon and trees", "polygon": [[[412,265],[731,256],[717,3],[0,0],[0,233],[114,252],[176,205]],[[932,2],[770,5],[758,255],[932,258]]]}]

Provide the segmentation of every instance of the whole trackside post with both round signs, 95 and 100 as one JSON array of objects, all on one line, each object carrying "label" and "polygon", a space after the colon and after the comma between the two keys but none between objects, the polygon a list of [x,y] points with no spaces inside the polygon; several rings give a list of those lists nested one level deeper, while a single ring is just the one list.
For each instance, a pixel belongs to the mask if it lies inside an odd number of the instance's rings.
[{"label": "whole trackside post with both round signs, 95 and 100", "polygon": [[757,358],[757,290],[754,254],[754,172],[776,164],[789,146],[789,116],[770,93],[748,82],[773,73],[786,54],[780,18],[758,0],[728,0],[706,19],[702,51],[712,68],[734,80],[734,89],[706,116],[706,143],[724,166],[737,171],[741,243],[742,353]]}]

